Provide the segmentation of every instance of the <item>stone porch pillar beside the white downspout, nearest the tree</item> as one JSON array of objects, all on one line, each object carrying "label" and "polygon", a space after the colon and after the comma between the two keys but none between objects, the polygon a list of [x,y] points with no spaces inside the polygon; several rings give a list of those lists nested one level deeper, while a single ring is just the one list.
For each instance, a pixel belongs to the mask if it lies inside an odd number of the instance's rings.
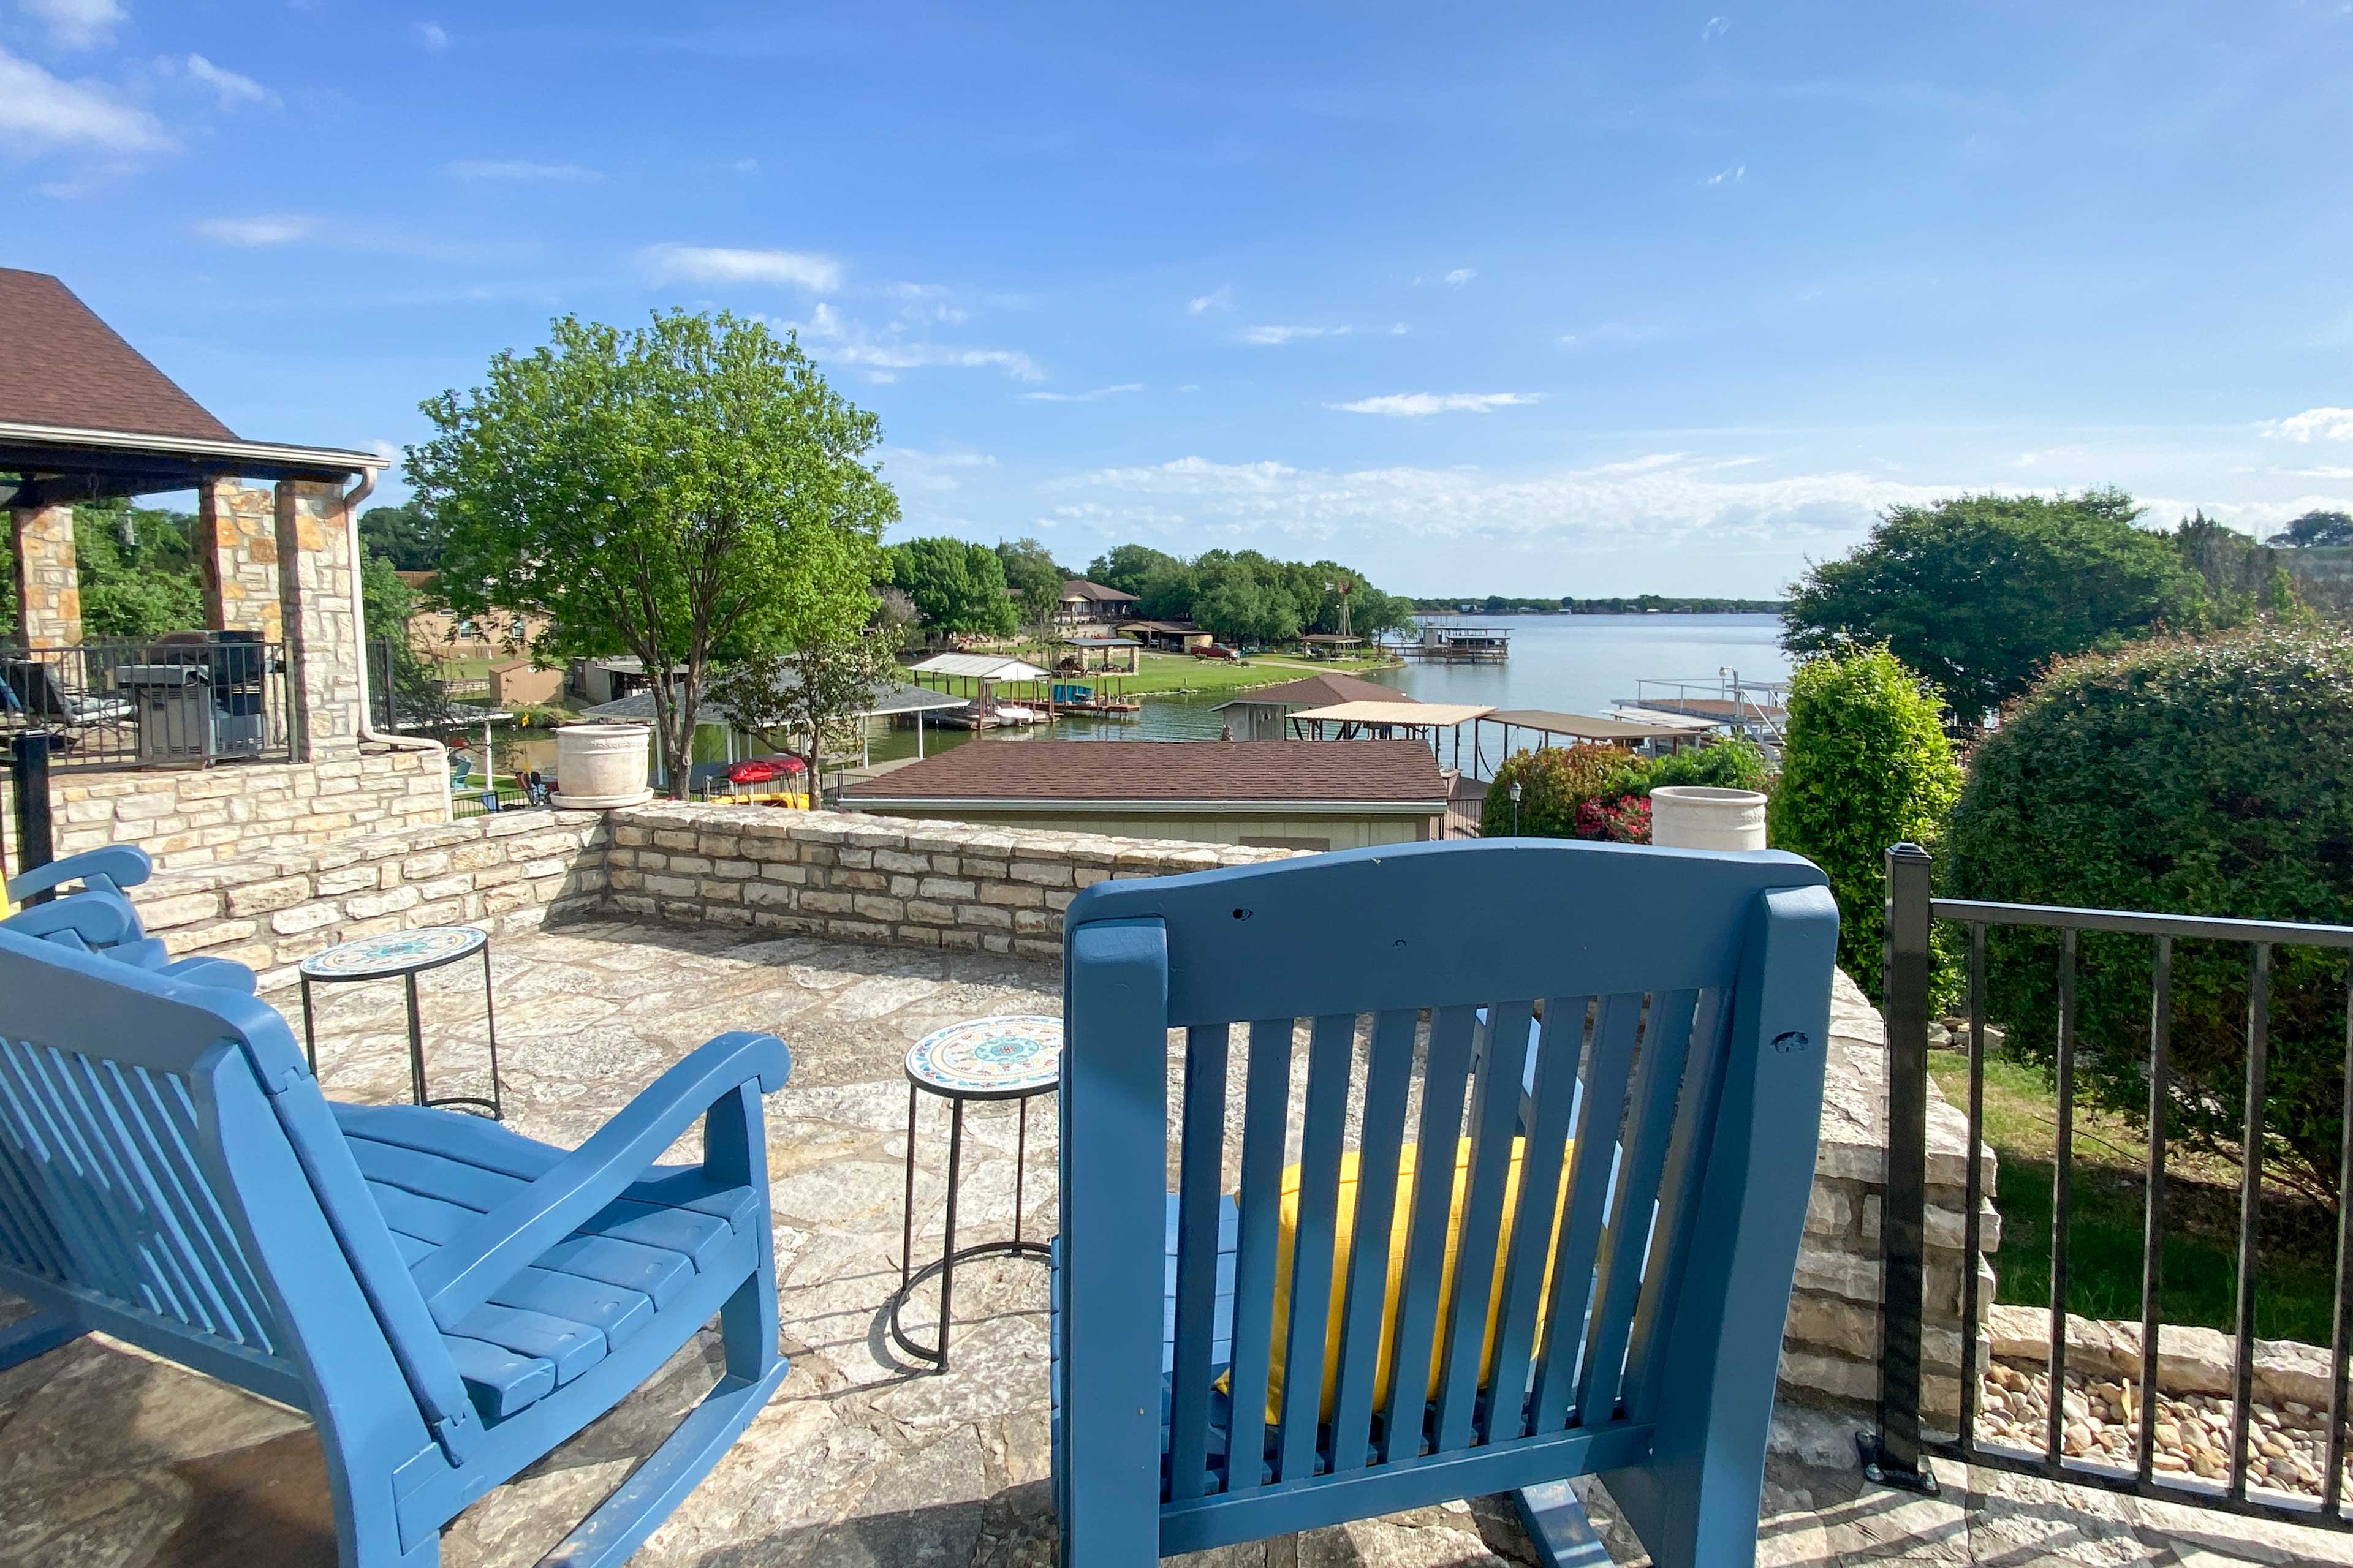
[{"label": "stone porch pillar beside the white downspout, nearest the tree", "polygon": [[360,743],[360,628],[344,487],[278,482],[278,614],[296,762],[348,757]]}]

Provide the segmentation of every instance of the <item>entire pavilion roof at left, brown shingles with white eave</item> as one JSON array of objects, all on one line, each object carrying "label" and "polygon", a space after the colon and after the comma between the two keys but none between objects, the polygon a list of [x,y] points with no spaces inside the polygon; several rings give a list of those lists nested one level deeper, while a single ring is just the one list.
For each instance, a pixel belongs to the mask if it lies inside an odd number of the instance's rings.
[{"label": "entire pavilion roof at left, brown shingles with white eave", "polygon": [[52,505],[205,480],[327,480],[386,458],[247,442],[47,273],[0,268],[0,501]]}]

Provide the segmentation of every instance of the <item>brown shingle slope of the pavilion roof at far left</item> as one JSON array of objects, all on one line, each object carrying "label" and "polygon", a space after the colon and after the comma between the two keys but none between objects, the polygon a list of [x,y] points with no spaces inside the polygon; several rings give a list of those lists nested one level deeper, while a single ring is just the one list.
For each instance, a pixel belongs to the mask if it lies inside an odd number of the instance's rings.
[{"label": "brown shingle slope of the pavilion roof at far left", "polygon": [[0,268],[0,421],[238,440],[73,289],[14,268]]}]

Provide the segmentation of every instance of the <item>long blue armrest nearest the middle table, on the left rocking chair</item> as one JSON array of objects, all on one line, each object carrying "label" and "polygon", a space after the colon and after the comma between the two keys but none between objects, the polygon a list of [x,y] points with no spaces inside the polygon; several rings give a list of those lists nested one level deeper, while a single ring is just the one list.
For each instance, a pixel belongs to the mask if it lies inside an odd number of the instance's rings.
[{"label": "long blue armrest nearest the middle table, on the left rocking chair", "polygon": [[489,1300],[544,1251],[569,1237],[638,1182],[704,1112],[722,1110],[758,1081],[776,1093],[793,1053],[774,1034],[720,1034],[654,1079],[581,1147],[416,1265],[416,1288],[445,1331]]}]

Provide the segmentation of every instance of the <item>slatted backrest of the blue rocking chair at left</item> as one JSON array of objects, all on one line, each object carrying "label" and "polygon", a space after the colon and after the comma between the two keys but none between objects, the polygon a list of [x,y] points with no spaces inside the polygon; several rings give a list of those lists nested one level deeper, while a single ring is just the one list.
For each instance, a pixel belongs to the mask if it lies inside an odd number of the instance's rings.
[{"label": "slatted backrest of the blue rocking chair at left", "polygon": [[473,1422],[278,1011],[5,929],[0,1286],[306,1408],[313,1340],[353,1333],[315,1316],[341,1298],[426,1427]]}]

